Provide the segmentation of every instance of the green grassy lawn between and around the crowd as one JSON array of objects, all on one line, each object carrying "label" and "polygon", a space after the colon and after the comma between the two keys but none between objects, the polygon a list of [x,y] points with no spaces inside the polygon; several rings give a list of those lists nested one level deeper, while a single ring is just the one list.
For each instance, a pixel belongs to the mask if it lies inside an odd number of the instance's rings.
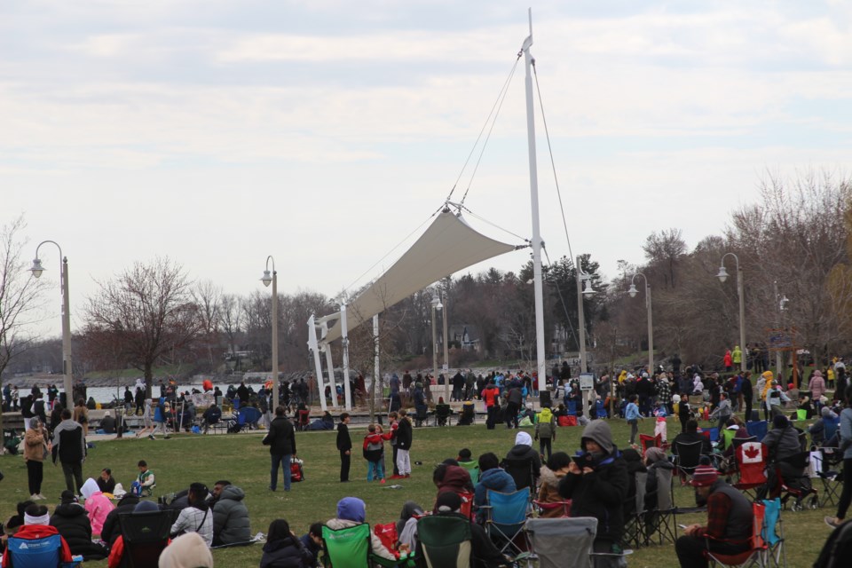
[{"label": "green grassy lawn between and around the crowd", "polygon": [[[614,438],[618,446],[627,446],[628,430],[623,421],[611,421]],[[640,431],[651,434],[653,422],[643,421]],[[669,421],[669,438],[680,430],[679,424]],[[352,428],[356,446],[363,429]],[[555,450],[572,453],[579,447],[580,428],[561,429],[556,438]],[[446,457],[455,457],[461,447],[469,447],[476,456],[488,451],[505,455],[514,444],[515,430],[499,427],[485,430],[484,424],[472,427],[449,427],[444,429],[422,428],[414,430],[414,446],[411,452],[413,476],[401,480],[401,489],[390,489],[387,485],[367,483],[366,462],[356,452],[352,459],[353,481],[338,482],[339,458],[335,449],[335,432],[297,432],[298,455],[304,460],[306,481],[293,485],[290,493],[271,493],[269,485],[269,453],[256,435],[185,435],[170,440],[127,438],[98,442],[90,450],[89,459],[83,466],[84,477],[96,477],[100,469],[113,469],[114,477],[129,486],[136,476],[136,463],[145,459],[157,476],[156,494],[185,489],[193,481],[201,481],[212,487],[217,479],[228,479],[240,485],[246,492],[248,510],[252,519],[252,533],[267,532],[275,518],[286,518],[293,530],[302,534],[314,521],[335,517],[335,503],[344,496],[355,495],[367,502],[367,520],[373,523],[388,523],[398,518],[399,510],[406,500],[419,502],[430,508],[435,498],[435,487],[431,483],[433,466]],[[422,465],[414,465],[422,461]],[[388,447],[390,465],[390,448]],[[0,469],[5,479],[0,482],[0,517],[4,521],[12,515],[17,501],[28,498],[27,472],[20,456],[0,457]],[[45,465],[43,492],[51,512],[59,502],[59,493],[65,488],[61,469]],[[820,485],[815,485],[820,486]],[[680,506],[693,505],[689,488],[677,487],[675,502]],[[787,539],[787,562],[790,566],[809,566],[816,560],[829,529],[822,521],[832,515],[834,509],[817,509],[799,513],[785,512],[785,536]],[[703,522],[701,516],[679,516],[677,522],[690,525]],[[261,547],[230,548],[214,551],[218,566],[256,566],[259,564]],[[106,561],[86,563],[91,566],[106,566]],[[673,545],[641,548],[629,558],[631,566],[677,566]]]}]

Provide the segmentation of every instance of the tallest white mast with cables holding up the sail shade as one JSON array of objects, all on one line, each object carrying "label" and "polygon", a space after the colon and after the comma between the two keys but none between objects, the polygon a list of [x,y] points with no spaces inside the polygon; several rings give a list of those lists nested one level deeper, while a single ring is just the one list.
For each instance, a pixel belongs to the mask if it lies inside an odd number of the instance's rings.
[{"label": "tallest white mast with cables holding up the sail shade", "polygon": [[530,154],[530,201],[533,209],[533,288],[535,290],[535,356],[539,391],[547,390],[547,360],[544,352],[544,301],[541,285],[541,232],[539,228],[539,176],[535,158],[535,120],[533,114],[533,9],[529,11],[530,35],[524,40],[526,65],[526,136]]}]

